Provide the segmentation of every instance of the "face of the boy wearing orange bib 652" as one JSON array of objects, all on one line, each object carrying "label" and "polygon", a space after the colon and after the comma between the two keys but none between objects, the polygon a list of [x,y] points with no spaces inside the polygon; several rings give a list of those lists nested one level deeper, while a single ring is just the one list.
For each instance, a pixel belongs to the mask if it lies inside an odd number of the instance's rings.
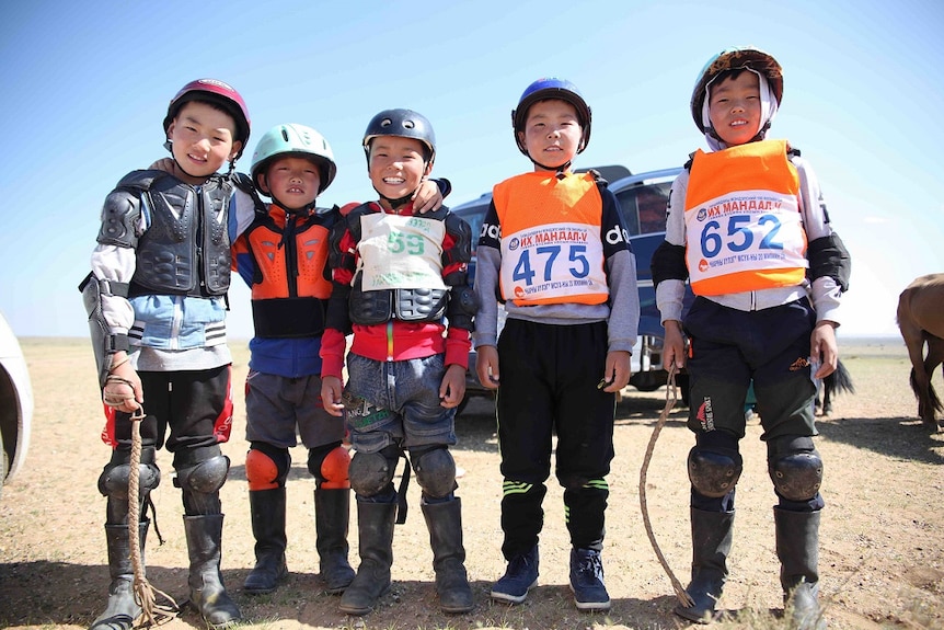
[{"label": "face of the boy wearing orange bib 652", "polygon": [[710,87],[709,116],[715,134],[728,146],[745,145],[760,130],[760,80],[750,70]]}]

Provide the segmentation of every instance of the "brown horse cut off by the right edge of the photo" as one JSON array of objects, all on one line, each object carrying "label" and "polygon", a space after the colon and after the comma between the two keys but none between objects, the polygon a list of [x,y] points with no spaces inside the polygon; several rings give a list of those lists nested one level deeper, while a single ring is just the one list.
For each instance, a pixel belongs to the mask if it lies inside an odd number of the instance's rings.
[{"label": "brown horse cut off by the right edge of the photo", "polygon": [[918,415],[925,425],[936,429],[934,414],[942,411],[942,406],[931,385],[931,375],[944,362],[944,274],[914,278],[901,291],[898,329],[911,359],[911,389],[918,397]]}]

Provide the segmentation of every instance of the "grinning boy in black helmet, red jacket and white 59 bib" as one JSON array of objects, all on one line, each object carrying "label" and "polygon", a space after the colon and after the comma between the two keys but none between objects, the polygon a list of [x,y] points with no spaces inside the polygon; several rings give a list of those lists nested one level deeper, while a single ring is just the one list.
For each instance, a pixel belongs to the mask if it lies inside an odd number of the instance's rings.
[{"label": "grinning boy in black helmet, red jacket and white 59 bib", "polygon": [[[433,127],[424,116],[411,110],[380,112],[362,145],[380,199],[352,210],[332,230],[333,289],[321,346],[324,408],[346,413],[356,450],[349,474],[360,566],[341,609],[365,615],[390,588],[398,500],[392,480],[398,459],[408,453],[423,491],[439,605],[446,612],[468,612],[474,603],[449,446],[456,444],[456,408],[465,391],[475,310],[467,280],[471,230],[446,208],[423,217],[414,211],[411,196],[436,157]],[[342,391],[345,334],[350,332],[348,382]]]}]

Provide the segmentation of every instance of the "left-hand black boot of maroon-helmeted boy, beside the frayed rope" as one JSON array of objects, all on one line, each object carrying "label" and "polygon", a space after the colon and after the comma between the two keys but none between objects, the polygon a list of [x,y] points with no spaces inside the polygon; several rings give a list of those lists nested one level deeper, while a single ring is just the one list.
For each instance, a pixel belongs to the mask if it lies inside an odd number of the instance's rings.
[{"label": "left-hand black boot of maroon-helmeted boy, beside the frayed rope", "polygon": [[[139,524],[138,529],[142,559],[148,523]],[[108,604],[105,606],[105,611],[92,621],[89,629],[130,630],[135,619],[141,614],[141,607],[135,602],[133,591],[135,571],[131,566],[131,540],[128,526],[105,525],[105,538],[108,543],[108,573],[112,576],[112,584],[108,586]]]}]

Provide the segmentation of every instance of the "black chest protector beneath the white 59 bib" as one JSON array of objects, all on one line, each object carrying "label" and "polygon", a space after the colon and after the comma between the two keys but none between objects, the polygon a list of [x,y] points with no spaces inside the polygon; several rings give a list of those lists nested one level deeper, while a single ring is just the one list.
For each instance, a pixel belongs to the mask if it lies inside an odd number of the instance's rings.
[{"label": "black chest protector beneath the white 59 bib", "polygon": [[[347,216],[347,229],[356,242],[360,242],[360,217],[375,211],[367,204],[359,206]],[[423,218],[446,220],[448,209],[444,206]],[[448,222],[447,222],[448,229]],[[350,321],[361,325],[375,325],[389,321],[424,322],[439,321],[446,314],[449,303],[448,289],[398,288],[365,291],[360,272],[354,276],[348,308]]]}]

